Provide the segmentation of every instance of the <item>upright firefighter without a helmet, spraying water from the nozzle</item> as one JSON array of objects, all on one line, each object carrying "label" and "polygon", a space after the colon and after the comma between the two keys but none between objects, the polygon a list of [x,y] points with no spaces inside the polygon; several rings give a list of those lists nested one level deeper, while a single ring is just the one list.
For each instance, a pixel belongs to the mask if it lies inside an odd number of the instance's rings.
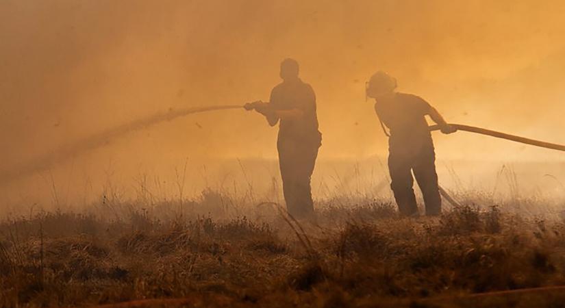
[{"label": "upright firefighter without a helmet, spraying water from the nozzle", "polygon": [[263,114],[271,126],[280,121],[277,149],[286,208],[295,218],[312,218],[310,178],[322,141],[316,95],[299,78],[299,64],[295,60],[281,62],[280,77],[283,82],[273,88],[268,103],[248,103],[245,109]]}]

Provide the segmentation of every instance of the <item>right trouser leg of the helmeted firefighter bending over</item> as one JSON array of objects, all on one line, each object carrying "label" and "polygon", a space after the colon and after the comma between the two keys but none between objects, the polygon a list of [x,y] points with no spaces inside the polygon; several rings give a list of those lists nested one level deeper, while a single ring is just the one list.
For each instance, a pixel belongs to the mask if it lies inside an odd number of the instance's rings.
[{"label": "right trouser leg of the helmeted firefighter bending over", "polygon": [[441,196],[436,172],[436,154],[434,148],[424,149],[414,162],[414,177],[422,190],[426,215],[441,213]]}]

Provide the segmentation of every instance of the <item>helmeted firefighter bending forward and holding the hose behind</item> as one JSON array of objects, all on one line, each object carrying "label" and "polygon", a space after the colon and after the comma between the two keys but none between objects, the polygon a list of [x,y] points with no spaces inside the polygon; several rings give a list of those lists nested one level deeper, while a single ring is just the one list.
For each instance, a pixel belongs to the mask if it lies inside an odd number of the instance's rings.
[{"label": "helmeted firefighter bending forward and holding the hose behind", "polygon": [[[448,125],[439,112],[420,97],[395,92],[397,80],[378,72],[366,85],[367,97],[375,99],[375,112],[388,140],[388,169],[390,188],[394,192],[401,214],[414,216],[418,213],[414,196],[414,177],[422,190],[427,215],[441,213],[441,198],[436,173],[434,142],[425,119],[438,123],[442,133],[457,129]],[[386,131],[390,129],[390,133]]]}]

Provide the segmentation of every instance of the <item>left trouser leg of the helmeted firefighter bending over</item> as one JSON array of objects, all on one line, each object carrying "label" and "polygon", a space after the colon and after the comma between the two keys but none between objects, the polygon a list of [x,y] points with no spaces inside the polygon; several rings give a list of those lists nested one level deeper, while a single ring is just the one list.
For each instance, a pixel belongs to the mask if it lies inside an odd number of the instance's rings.
[{"label": "left trouser leg of the helmeted firefighter bending over", "polygon": [[412,177],[412,166],[410,159],[390,153],[388,156],[388,170],[390,172],[390,188],[394,193],[399,211],[406,216],[418,212],[416,196],[414,195],[414,178]]}]

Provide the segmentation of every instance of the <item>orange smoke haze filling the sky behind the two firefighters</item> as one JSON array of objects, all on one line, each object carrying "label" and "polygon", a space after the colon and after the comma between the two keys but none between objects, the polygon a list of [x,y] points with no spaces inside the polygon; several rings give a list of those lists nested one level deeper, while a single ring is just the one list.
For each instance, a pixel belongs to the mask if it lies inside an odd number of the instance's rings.
[{"label": "orange smoke haze filling the sky behind the two firefighters", "polygon": [[[318,179],[333,172],[331,162],[386,155],[364,97],[378,69],[450,122],[565,143],[564,14],[561,1],[4,0],[0,173],[169,109],[267,100],[285,57],[299,60],[316,91],[320,160],[329,166],[319,165]],[[558,152],[434,136],[440,161],[458,162],[464,175],[509,161],[565,165]],[[82,196],[110,175],[124,185],[140,174],[172,177],[184,162],[190,181],[210,185],[236,172],[214,162],[236,159],[237,168],[258,166],[260,185],[278,176],[276,166],[247,162],[275,159],[275,138],[256,114],[189,116],[73,156],[2,193],[16,203],[34,202],[32,191]]]}]

